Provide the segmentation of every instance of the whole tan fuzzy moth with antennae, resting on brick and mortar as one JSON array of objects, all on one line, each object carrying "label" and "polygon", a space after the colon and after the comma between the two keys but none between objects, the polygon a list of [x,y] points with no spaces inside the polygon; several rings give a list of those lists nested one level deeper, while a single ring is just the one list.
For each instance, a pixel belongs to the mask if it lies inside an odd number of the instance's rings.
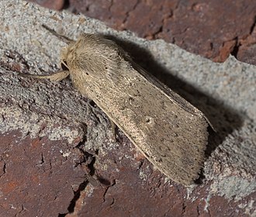
[{"label": "whole tan fuzzy moth with antennae, resting on brick and mortar", "polygon": [[205,158],[205,115],[135,64],[114,41],[88,33],[76,41],[60,37],[68,44],[61,50],[63,71],[27,76],[50,81],[70,76],[74,87],[91,98],[159,171],[180,184],[192,184]]}]

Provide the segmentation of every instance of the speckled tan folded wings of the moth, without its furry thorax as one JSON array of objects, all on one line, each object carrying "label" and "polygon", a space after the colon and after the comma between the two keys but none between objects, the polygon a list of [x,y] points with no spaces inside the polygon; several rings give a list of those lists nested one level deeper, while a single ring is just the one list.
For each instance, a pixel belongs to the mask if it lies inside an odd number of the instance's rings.
[{"label": "speckled tan folded wings of the moth, without its furry thorax", "polygon": [[122,78],[113,76],[107,90],[100,88],[105,84],[91,87],[102,93],[92,99],[159,171],[191,184],[199,177],[208,140],[202,112],[133,68],[119,73]]}]

